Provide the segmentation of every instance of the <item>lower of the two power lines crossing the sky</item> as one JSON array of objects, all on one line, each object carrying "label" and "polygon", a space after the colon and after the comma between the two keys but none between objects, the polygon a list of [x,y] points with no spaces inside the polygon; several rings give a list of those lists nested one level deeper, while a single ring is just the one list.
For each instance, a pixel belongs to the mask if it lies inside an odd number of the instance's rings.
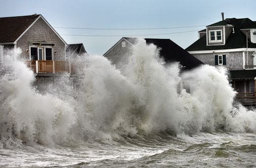
[{"label": "lower of the two power lines crossing the sky", "polygon": [[80,35],[80,34],[60,34],[62,36],[87,36],[87,37],[127,37],[127,36],[155,36],[155,35],[167,35],[167,34],[179,34],[187,32],[197,32],[200,30],[192,30],[186,32],[174,32],[174,33],[160,33],[160,34],[139,34],[139,35]]}]

